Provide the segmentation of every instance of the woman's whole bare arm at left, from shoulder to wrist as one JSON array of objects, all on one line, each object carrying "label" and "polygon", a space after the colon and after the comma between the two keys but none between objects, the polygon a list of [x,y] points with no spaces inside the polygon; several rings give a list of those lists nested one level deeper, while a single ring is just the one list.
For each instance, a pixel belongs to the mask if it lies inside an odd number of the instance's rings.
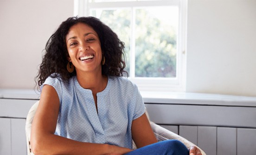
[{"label": "woman's whole bare arm at left, from shoulder to wrist", "polygon": [[32,122],[31,147],[35,155],[122,155],[131,151],[114,145],[82,143],[54,135],[58,112],[58,94],[52,86],[45,85]]}]

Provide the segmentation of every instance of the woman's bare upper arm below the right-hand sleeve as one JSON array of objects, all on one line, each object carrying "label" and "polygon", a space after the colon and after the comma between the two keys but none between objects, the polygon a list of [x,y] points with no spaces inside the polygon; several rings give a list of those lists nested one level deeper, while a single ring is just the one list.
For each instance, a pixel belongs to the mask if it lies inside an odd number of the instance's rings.
[{"label": "woman's bare upper arm below the right-hand sleeve", "polygon": [[157,142],[146,113],[133,120],[132,137],[137,148]]}]

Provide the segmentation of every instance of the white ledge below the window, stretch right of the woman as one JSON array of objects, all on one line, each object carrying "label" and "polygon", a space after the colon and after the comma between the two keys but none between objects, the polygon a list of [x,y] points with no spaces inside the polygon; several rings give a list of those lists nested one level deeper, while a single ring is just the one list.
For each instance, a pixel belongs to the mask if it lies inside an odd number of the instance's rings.
[{"label": "white ledge below the window, stretch right of the woman", "polygon": [[184,105],[220,105],[256,107],[256,97],[186,92],[147,92],[141,96],[145,103],[184,104]]}]

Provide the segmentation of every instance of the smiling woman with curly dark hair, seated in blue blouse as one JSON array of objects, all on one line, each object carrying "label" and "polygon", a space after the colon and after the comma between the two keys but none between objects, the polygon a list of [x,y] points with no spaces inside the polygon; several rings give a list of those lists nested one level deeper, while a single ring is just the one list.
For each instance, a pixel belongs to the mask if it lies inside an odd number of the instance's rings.
[{"label": "smiling woman with curly dark hair, seated in blue blouse", "polygon": [[[124,45],[99,19],[67,19],[45,50],[38,74],[41,97],[31,129],[33,153],[189,154],[177,140],[157,143],[137,86],[122,77]],[[65,68],[70,63],[73,71]]]}]

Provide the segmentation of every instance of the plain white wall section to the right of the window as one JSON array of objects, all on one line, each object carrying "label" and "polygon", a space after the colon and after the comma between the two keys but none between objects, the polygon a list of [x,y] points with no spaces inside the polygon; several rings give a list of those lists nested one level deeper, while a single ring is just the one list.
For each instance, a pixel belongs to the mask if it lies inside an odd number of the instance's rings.
[{"label": "plain white wall section to the right of the window", "polygon": [[256,0],[188,0],[186,91],[256,96]]}]

